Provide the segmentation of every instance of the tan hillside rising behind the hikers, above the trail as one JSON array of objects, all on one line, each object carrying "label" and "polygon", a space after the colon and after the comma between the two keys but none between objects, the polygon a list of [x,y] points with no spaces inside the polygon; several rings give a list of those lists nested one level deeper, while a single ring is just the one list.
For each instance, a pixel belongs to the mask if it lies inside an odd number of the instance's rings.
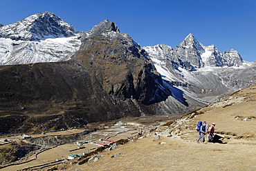
[{"label": "tan hillside rising behind the hikers, above the trail", "polygon": [[219,103],[199,110],[194,120],[216,123],[216,132],[233,137],[256,139],[256,87],[235,92]]}]

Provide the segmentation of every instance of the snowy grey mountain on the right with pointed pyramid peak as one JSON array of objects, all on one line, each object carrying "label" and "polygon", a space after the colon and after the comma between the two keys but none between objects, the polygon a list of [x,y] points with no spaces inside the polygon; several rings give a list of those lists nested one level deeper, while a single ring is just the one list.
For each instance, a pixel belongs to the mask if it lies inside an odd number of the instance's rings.
[{"label": "snowy grey mountain on the right with pointed pyramid peak", "polygon": [[243,61],[237,50],[224,51],[203,46],[189,34],[179,46],[143,47],[154,61],[163,80],[196,96],[213,102],[220,94],[255,85],[255,63]]}]

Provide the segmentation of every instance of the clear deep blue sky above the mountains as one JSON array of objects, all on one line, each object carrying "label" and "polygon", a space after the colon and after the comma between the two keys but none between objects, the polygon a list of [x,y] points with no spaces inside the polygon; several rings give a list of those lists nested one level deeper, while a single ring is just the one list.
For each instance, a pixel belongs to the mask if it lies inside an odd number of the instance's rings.
[{"label": "clear deep blue sky above the mountains", "polygon": [[175,48],[192,33],[203,45],[219,51],[235,49],[245,61],[256,61],[255,0],[0,0],[0,23],[50,11],[77,31],[88,31],[104,19],[140,46]]}]

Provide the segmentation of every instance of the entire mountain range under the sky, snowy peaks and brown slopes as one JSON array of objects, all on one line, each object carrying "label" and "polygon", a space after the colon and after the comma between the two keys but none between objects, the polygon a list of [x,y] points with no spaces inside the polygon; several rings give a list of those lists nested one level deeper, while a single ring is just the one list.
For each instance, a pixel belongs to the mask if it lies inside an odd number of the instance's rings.
[{"label": "entire mountain range under the sky, snowy peaks and brown slopes", "polygon": [[0,64],[1,133],[185,114],[256,83],[255,62],[192,34],[141,48],[111,21],[76,32],[52,12],[1,26]]}]

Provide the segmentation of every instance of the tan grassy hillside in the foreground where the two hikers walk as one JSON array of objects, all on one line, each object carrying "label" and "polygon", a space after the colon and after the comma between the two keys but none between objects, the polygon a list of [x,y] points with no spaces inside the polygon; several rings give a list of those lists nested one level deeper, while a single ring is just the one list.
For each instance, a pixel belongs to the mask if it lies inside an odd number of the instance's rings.
[{"label": "tan grassy hillside in the foreground where the two hikers walk", "polygon": [[[158,134],[171,132],[153,141],[154,134],[129,142],[111,152],[104,152],[98,161],[84,165],[63,164],[67,170],[256,170],[255,124],[256,86],[235,92],[218,103],[176,119]],[[239,116],[237,118],[237,116]],[[251,118],[242,121],[244,118]],[[237,119],[236,119],[237,118]],[[246,120],[246,119],[245,119]],[[216,123],[217,143],[196,143],[197,121]],[[160,133],[159,133],[160,132]],[[165,142],[164,144],[160,144]],[[118,154],[117,157],[113,157]],[[120,155],[119,155],[120,154]]]}]

